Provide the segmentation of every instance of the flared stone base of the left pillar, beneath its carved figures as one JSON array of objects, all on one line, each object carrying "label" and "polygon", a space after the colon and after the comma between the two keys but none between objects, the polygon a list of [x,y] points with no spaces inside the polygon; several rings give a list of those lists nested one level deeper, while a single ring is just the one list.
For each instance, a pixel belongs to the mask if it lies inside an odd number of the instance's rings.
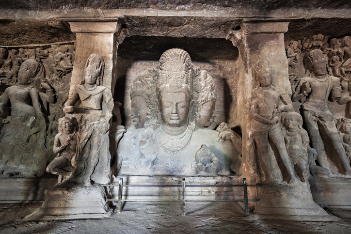
[{"label": "flared stone base of the left pillar, beneath its carved figures", "polygon": [[45,191],[47,199],[27,220],[81,219],[109,217],[112,211],[101,186],[62,186]]}]

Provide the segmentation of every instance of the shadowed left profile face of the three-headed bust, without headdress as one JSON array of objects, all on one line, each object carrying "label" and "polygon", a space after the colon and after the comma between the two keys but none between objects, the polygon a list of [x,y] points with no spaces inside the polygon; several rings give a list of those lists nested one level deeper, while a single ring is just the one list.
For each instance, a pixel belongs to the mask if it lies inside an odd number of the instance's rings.
[{"label": "shadowed left profile face of the three-headed bust, without headdress", "polygon": [[148,107],[146,101],[142,96],[135,96],[131,100],[131,111],[130,115],[132,117],[133,125],[135,128],[144,127],[146,121],[146,115],[148,113]]}]

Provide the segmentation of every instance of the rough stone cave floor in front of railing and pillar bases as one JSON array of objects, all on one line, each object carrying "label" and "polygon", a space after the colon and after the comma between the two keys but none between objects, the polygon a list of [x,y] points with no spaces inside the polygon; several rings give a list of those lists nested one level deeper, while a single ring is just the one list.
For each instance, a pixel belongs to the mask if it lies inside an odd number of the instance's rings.
[{"label": "rough stone cave floor in front of railing and pillar bases", "polygon": [[[0,204],[0,233],[4,234],[346,234],[351,233],[351,210],[326,209],[337,221],[292,221],[244,216],[238,203],[125,203],[111,218],[69,221],[23,221],[41,203]],[[313,220],[313,218],[310,218]]]}]

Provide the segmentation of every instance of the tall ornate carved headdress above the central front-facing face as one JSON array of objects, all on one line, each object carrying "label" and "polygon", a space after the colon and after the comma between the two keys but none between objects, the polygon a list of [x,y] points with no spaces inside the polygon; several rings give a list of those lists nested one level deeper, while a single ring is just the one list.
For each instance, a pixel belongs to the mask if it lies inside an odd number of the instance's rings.
[{"label": "tall ornate carved headdress above the central front-facing face", "polygon": [[172,48],[165,51],[159,60],[157,94],[164,88],[186,88],[192,96],[193,69],[187,51]]}]

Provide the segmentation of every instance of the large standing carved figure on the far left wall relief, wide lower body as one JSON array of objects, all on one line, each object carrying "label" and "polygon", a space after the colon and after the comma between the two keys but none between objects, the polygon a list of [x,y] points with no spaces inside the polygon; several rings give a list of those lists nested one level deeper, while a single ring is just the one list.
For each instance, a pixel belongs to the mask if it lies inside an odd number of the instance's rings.
[{"label": "large standing carved figure on the far left wall relief, wide lower body", "polygon": [[40,176],[45,172],[46,122],[39,104],[39,91],[33,83],[39,84],[48,101],[54,101],[54,94],[47,83],[41,83],[43,76],[42,64],[28,59],[18,71],[18,85],[7,88],[0,97],[0,114],[8,101],[11,102],[11,116],[9,121],[4,121],[7,124],[0,133],[4,171],[18,171],[25,176]]}]

